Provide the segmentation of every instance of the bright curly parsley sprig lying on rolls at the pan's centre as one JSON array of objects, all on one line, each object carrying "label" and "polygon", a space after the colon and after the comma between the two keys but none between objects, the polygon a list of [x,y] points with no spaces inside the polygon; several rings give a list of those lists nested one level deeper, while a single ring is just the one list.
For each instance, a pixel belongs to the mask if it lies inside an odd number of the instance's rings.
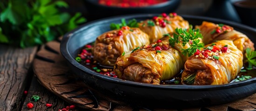
[{"label": "bright curly parsley sprig lying on rolls at the pan's centre", "polygon": [[175,43],[180,43],[182,42],[182,45],[185,46],[187,43],[190,41],[192,42],[189,43],[190,48],[188,49],[182,49],[182,54],[184,56],[192,56],[194,52],[196,52],[196,49],[201,49],[204,47],[204,43],[200,43],[200,40],[198,38],[202,38],[202,34],[199,32],[199,29],[182,29],[182,28],[176,28],[175,32],[173,34],[173,37],[170,35],[164,35],[164,36],[169,36],[169,44],[171,46],[174,46]]}]

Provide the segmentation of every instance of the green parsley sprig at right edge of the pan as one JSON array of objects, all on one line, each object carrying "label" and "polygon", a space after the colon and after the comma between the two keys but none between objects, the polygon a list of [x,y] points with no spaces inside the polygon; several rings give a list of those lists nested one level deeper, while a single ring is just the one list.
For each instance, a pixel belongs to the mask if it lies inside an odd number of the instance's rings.
[{"label": "green parsley sprig at right edge of the pan", "polygon": [[252,69],[252,66],[256,66],[256,51],[253,51],[251,48],[246,49],[246,58],[248,62],[248,70]]}]

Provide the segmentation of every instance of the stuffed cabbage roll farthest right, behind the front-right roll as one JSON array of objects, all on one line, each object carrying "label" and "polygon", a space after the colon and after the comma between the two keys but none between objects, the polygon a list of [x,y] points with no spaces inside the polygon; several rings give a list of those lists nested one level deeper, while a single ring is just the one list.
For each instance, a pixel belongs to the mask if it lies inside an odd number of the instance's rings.
[{"label": "stuffed cabbage roll farthest right, behind the front-right roll", "polygon": [[254,43],[246,35],[235,31],[231,26],[204,21],[202,25],[196,26],[196,28],[200,29],[203,35],[203,43],[205,44],[219,40],[232,40],[243,54],[245,54],[246,48],[254,50]]}]

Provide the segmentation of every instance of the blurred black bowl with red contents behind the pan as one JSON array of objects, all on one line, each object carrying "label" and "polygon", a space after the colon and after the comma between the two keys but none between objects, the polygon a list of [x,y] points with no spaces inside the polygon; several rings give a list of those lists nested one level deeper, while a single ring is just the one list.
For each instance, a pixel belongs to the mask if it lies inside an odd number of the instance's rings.
[{"label": "blurred black bowl with red contents behind the pan", "polygon": [[102,19],[105,17],[135,14],[135,13],[159,13],[159,12],[173,12],[180,5],[180,0],[168,0],[152,6],[145,7],[116,7],[104,6],[98,4],[98,0],[83,0],[87,11],[89,12],[89,20]]}]

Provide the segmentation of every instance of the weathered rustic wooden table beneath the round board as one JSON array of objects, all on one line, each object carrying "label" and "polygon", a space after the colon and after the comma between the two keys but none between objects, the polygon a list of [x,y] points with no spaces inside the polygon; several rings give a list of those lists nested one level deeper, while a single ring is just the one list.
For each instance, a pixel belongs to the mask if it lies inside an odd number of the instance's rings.
[{"label": "weathered rustic wooden table beneath the round board", "polygon": [[[0,44],[0,111],[58,111],[72,105],[48,91],[34,76],[32,63],[39,50],[39,47],[20,49]],[[28,94],[24,94],[24,91],[28,91]],[[38,95],[41,99],[38,102],[31,101],[33,95]],[[256,111],[255,99],[256,94],[253,94],[231,104],[180,109],[180,111]],[[34,104],[32,110],[27,108],[29,102]],[[46,103],[53,105],[51,108],[46,108]],[[147,108],[122,110],[152,111]],[[162,111],[162,109],[153,110]],[[73,111],[86,111],[86,109],[76,107]]]}]

